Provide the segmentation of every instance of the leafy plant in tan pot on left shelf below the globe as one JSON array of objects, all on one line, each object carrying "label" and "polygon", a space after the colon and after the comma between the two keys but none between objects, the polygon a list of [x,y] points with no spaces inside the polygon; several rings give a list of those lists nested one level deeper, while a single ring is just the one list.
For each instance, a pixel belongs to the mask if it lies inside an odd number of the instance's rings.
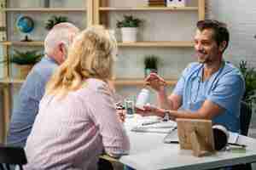
[{"label": "leafy plant in tan pot on left shelf below the globe", "polygon": [[15,54],[10,58],[10,62],[15,64],[17,70],[16,78],[25,79],[32,66],[36,64],[43,56],[38,50],[20,52],[14,50]]}]

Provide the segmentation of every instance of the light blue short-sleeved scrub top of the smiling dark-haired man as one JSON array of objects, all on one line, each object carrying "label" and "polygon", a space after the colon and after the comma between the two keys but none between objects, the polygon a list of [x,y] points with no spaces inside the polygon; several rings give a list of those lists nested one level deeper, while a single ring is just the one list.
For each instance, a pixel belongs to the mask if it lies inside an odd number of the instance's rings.
[{"label": "light blue short-sleeved scrub top of the smiling dark-haired man", "polygon": [[245,91],[240,71],[229,62],[224,62],[224,65],[204,82],[201,81],[202,71],[202,64],[192,63],[178,80],[173,93],[182,96],[181,109],[197,111],[206,99],[210,100],[224,108],[224,112],[214,117],[212,123],[239,132],[240,102]]}]

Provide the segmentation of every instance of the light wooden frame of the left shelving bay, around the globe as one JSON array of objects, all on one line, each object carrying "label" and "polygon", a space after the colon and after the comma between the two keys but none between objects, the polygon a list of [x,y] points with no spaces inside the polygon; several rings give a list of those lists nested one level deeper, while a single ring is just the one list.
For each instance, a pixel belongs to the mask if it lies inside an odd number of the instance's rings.
[{"label": "light wooden frame of the left shelving bay, around the globe", "polygon": [[[91,4],[93,0],[84,0],[85,3],[88,2],[88,4]],[[7,4],[7,0],[6,0]],[[92,12],[88,13],[88,8],[89,7],[84,7],[84,8],[0,8],[0,14],[2,14],[2,27],[6,28],[6,37],[7,40],[0,42],[0,45],[3,46],[3,56],[4,60],[7,60],[6,63],[1,64],[3,65],[3,78],[0,79],[0,84],[3,89],[3,115],[2,115],[2,120],[3,122],[0,123],[0,143],[4,141],[7,130],[9,128],[9,119],[10,119],[10,111],[11,111],[11,105],[12,105],[12,95],[11,95],[11,90],[10,88],[12,87],[13,84],[21,84],[24,82],[24,80],[20,79],[15,79],[10,77],[10,63],[9,63],[9,48],[13,46],[17,47],[43,47],[44,42],[43,41],[32,41],[32,42],[20,42],[20,41],[9,41],[8,37],[8,21],[13,21],[9,19],[9,14],[10,13],[20,13],[20,14],[34,14],[34,13],[44,13],[44,14],[55,14],[55,13],[62,13],[62,14],[70,14],[70,13],[85,13],[87,14],[88,20],[86,25],[91,25],[92,21],[90,20]],[[42,37],[42,40],[44,37]]]}]

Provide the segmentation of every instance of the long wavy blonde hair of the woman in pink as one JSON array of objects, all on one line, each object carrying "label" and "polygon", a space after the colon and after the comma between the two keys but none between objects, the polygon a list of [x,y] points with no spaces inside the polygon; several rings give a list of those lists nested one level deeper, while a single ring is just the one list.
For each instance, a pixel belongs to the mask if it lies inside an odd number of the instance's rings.
[{"label": "long wavy blonde hair of the woman in pink", "polygon": [[104,27],[91,26],[82,31],[74,38],[67,59],[49,80],[46,94],[63,97],[91,77],[108,81],[113,77],[116,51],[117,42]]}]

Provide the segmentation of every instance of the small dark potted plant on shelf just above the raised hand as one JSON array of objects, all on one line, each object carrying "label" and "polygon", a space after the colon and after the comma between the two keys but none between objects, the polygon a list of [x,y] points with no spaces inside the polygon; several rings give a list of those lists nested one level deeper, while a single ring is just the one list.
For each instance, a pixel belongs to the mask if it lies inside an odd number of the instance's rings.
[{"label": "small dark potted plant on shelf just above the raised hand", "polygon": [[144,65],[145,65],[145,77],[148,77],[150,72],[156,72],[157,73],[157,65],[159,63],[158,56],[152,54],[152,55],[146,55],[144,59]]}]

